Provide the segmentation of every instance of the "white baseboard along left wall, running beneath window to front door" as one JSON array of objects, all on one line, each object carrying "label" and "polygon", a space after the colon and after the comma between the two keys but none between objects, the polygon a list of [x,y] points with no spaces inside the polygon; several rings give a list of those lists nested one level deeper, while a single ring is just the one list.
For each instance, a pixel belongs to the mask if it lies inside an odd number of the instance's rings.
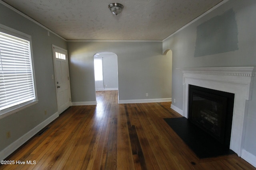
[{"label": "white baseboard along left wall, running beneath window to front door", "polygon": [[9,156],[12,152],[22,146],[26,141],[32,138],[36,133],[42,130],[46,125],[54,121],[59,116],[59,113],[56,112],[52,116],[48,117],[45,121],[34,127],[34,129],[30,130],[28,133],[11,143],[8,147],[0,151],[0,160],[4,160],[7,156]]}]

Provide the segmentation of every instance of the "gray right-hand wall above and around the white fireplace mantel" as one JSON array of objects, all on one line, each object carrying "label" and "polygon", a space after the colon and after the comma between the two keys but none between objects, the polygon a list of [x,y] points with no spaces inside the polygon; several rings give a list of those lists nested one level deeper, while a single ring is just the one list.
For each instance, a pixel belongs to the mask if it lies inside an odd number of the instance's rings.
[{"label": "gray right-hand wall above and around the white fireplace mantel", "polygon": [[[235,20],[229,21],[233,14],[225,18],[227,12],[234,12]],[[163,42],[163,51],[166,49],[172,50],[172,100],[176,99],[174,106],[182,109],[183,105],[183,85],[182,85],[182,72],[176,68],[192,68],[192,67],[222,67],[222,66],[256,66],[256,1],[255,0],[229,0],[216,10],[210,12],[206,16],[200,18],[192,23],[182,31],[172,35]],[[215,46],[218,43],[212,43],[207,36],[200,37],[204,43],[211,43],[214,51],[208,55],[195,55],[196,48],[199,42],[198,26],[209,21],[212,18],[221,18],[226,22],[226,27],[222,27],[223,31],[229,31],[230,25],[234,27],[237,25],[237,31],[231,30],[234,39],[237,38],[238,43],[232,41],[230,46],[226,46],[225,52],[219,51]],[[234,23],[235,22],[235,23]],[[233,25],[233,26],[232,26]],[[202,28],[200,28],[202,29]],[[233,28],[232,28],[233,29]],[[201,30],[204,32],[213,30]],[[237,33],[236,33],[237,32]],[[214,35],[213,35],[214,36]],[[218,41],[225,41],[226,37],[215,35]],[[221,43],[221,42],[220,42]],[[234,47],[234,48],[233,48]],[[201,49],[204,51],[204,49]],[[196,53],[197,54],[197,53]],[[200,53],[202,54],[202,53]],[[194,57],[198,56],[198,57]],[[246,135],[244,141],[244,149],[253,155],[256,155],[256,84],[254,80],[252,100],[247,102],[248,106],[248,119],[246,124]]]}]

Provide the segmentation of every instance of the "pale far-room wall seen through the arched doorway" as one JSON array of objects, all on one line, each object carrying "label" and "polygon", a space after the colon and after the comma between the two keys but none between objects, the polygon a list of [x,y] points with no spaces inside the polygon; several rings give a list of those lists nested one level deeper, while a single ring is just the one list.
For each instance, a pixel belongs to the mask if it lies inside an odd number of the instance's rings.
[{"label": "pale far-room wall seen through the arched doorway", "polygon": [[114,53],[99,53],[102,58],[104,88],[118,88],[117,56]]}]

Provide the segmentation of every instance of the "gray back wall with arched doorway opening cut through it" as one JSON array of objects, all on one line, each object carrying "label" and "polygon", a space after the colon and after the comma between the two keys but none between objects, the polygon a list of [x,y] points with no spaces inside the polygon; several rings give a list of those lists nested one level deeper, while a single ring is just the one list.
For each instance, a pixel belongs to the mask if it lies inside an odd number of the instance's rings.
[{"label": "gray back wall with arched doorway opening cut through it", "polygon": [[172,60],[162,55],[162,42],[70,41],[72,102],[96,101],[93,56],[99,51],[118,56],[119,100],[171,98]]}]

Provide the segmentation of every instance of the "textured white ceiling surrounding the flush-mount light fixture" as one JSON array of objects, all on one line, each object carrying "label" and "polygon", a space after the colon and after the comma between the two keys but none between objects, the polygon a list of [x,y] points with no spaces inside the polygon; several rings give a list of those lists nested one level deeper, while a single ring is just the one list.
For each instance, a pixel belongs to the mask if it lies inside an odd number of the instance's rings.
[{"label": "textured white ceiling surrounding the flush-mount light fixture", "polygon": [[3,0],[67,40],[163,40],[222,0]]}]

